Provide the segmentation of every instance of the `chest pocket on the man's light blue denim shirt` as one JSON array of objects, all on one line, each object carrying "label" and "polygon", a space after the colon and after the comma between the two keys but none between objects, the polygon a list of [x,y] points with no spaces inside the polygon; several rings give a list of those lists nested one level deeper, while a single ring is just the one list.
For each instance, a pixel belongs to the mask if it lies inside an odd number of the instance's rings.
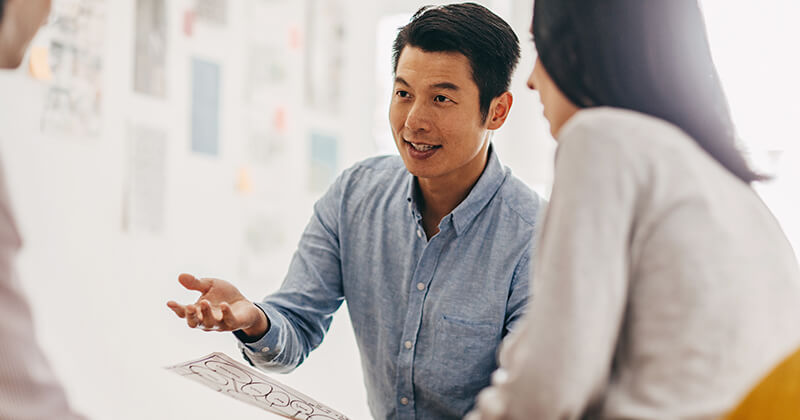
[{"label": "chest pocket on the man's light blue denim shirt", "polygon": [[456,407],[466,414],[478,392],[489,385],[497,368],[495,353],[502,337],[502,326],[442,315],[434,336],[435,365],[444,372],[431,384],[435,392],[463,402]]}]

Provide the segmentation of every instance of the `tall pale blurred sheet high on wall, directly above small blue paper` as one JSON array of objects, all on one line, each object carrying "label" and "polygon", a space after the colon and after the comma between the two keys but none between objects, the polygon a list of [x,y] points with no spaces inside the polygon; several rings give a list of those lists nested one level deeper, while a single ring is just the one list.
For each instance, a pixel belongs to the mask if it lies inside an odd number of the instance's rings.
[{"label": "tall pale blurred sheet high on wall, directly above small blue paper", "polygon": [[306,103],[334,114],[342,100],[344,4],[341,0],[308,0],[306,20]]}]

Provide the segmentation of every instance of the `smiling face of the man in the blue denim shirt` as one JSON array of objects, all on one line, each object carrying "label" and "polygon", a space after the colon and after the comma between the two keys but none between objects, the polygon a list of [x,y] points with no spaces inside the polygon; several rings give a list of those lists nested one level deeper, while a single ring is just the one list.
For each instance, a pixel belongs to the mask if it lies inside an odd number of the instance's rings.
[{"label": "smiling face of the man in the blue denim shirt", "polygon": [[471,176],[476,163],[482,171],[487,123],[467,57],[407,46],[395,76],[389,123],[408,171],[430,179]]}]

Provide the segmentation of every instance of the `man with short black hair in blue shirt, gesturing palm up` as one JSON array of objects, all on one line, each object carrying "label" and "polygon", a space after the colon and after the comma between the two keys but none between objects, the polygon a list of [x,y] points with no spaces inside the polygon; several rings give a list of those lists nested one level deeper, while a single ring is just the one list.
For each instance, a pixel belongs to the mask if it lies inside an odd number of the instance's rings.
[{"label": "man with short black hair in blue shirt, gesturing palm up", "polygon": [[461,418],[525,310],[540,200],[504,168],[519,41],[482,6],[419,10],[394,43],[389,111],[400,157],[346,170],[316,203],[281,289],[252,303],[230,283],[168,305],[190,327],[234,331],[254,365],[290,371],[343,300],[375,418]]}]

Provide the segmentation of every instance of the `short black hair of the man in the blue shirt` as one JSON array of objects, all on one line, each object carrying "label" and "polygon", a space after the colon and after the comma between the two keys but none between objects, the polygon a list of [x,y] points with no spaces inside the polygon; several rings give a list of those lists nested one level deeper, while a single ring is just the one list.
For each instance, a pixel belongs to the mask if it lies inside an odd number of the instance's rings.
[{"label": "short black hair of the man in the blue shirt", "polygon": [[492,100],[508,91],[520,56],[514,30],[489,9],[475,3],[424,6],[400,28],[392,49],[392,67],[406,46],[427,52],[459,52],[472,66],[485,120]]}]

